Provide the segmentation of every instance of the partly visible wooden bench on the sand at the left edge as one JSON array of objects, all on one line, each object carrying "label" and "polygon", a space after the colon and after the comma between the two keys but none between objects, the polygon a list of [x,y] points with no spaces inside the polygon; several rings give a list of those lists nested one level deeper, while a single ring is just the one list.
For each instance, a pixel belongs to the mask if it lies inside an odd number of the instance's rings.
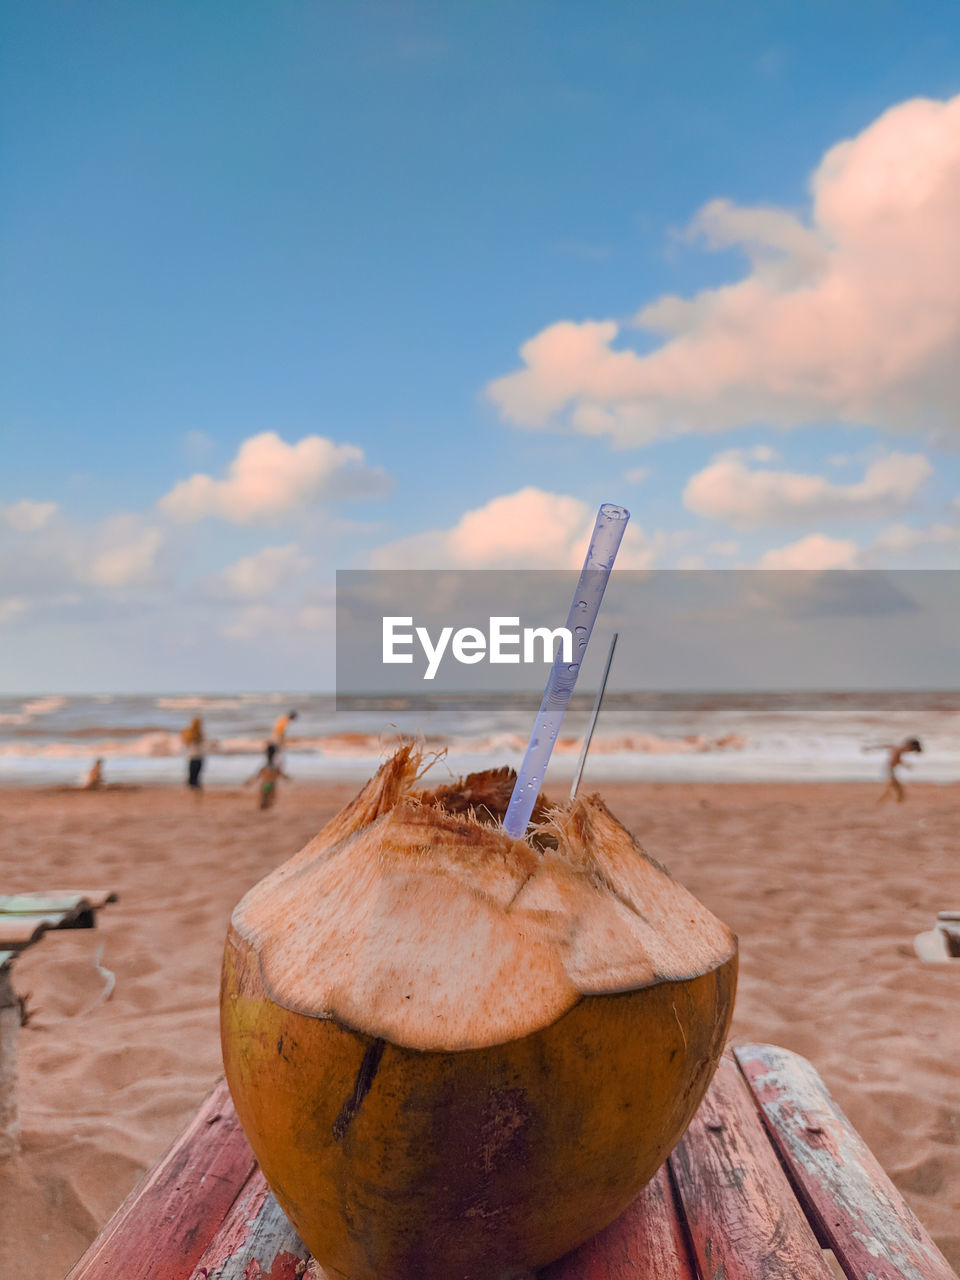
[{"label": "partly visible wooden bench on the sand at the left edge", "polygon": [[20,1001],[10,984],[14,960],[50,929],[92,929],[115,893],[58,891],[0,895],[0,1158],[19,1147],[17,1042]]}]

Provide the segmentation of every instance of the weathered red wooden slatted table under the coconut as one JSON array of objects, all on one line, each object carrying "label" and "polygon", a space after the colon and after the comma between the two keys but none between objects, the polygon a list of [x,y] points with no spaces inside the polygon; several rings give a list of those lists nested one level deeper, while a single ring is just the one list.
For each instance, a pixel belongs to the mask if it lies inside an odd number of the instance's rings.
[{"label": "weathered red wooden slatted table under the coconut", "polygon": [[[750,1044],[723,1060],[687,1133],[630,1208],[539,1280],[837,1275],[956,1280],[810,1064]],[[224,1082],[68,1280],[119,1276],[325,1276],[269,1192]]]}]

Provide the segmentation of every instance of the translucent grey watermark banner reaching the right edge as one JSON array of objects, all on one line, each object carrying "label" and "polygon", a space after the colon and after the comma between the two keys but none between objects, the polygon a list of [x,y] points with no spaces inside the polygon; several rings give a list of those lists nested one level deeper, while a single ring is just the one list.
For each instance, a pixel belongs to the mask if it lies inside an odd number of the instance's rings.
[{"label": "translucent grey watermark banner reaching the right edge", "polygon": [[337,705],[492,708],[543,690],[554,655],[594,689],[620,634],[620,690],[882,690],[960,685],[960,572],[614,572],[586,654],[564,628],[579,575],[337,575]]}]

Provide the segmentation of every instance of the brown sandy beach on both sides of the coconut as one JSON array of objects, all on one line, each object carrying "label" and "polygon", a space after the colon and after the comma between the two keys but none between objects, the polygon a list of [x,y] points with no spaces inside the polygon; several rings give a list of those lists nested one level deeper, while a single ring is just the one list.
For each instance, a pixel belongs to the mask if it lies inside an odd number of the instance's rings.
[{"label": "brown sandy beach on both sides of the coconut", "polygon": [[[809,1057],[960,1267],[960,972],[913,937],[960,908],[960,786],[876,805],[859,783],[598,787],[740,936],[735,1041]],[[113,890],[100,927],[14,968],[23,1151],[0,1166],[0,1277],[60,1280],[220,1074],[229,913],[356,791],[0,792],[5,891]],[[108,1001],[97,964],[115,974]]]}]

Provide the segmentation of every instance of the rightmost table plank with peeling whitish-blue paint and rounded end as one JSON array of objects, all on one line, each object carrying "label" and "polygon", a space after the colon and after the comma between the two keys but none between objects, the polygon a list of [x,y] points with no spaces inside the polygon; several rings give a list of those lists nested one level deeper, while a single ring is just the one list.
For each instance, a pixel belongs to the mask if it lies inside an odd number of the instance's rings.
[{"label": "rightmost table plank with peeling whitish-blue paint and rounded end", "polygon": [[804,1210],[847,1276],[956,1280],[814,1068],[772,1044],[735,1052]]}]

